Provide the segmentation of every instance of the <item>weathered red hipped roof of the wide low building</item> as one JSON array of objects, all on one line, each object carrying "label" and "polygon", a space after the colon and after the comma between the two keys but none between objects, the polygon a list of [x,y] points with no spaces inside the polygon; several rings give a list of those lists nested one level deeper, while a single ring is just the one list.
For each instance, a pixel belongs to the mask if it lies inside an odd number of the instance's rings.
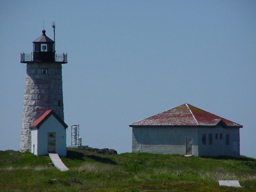
[{"label": "weathered red hipped roof of the wide low building", "polygon": [[243,125],[231,122],[225,118],[191,106],[188,103],[142,119],[129,126],[215,126],[220,123],[226,127],[243,127]]}]

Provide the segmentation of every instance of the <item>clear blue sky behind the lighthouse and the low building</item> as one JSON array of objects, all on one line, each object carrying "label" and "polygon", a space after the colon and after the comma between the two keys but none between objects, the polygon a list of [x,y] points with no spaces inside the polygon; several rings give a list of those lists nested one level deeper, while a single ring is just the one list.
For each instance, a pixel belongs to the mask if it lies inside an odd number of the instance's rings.
[{"label": "clear blue sky behind the lighthouse and the low building", "polygon": [[[0,1],[0,150],[19,150],[26,64],[42,35],[67,53],[70,145],[131,152],[129,124],[189,103],[243,125],[256,158],[256,1]],[[44,26],[43,26],[44,23]]]}]

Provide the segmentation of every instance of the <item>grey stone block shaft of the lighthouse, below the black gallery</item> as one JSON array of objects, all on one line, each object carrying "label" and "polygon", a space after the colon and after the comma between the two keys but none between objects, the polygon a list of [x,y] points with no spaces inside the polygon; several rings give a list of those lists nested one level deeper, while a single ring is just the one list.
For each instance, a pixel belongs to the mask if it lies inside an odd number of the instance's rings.
[{"label": "grey stone block shaft of the lighthouse, below the black gallery", "polygon": [[[47,72],[44,71],[45,74],[42,74],[42,70]],[[49,109],[54,110],[64,121],[61,63],[29,62],[27,63],[20,151],[31,150],[29,126]]]}]

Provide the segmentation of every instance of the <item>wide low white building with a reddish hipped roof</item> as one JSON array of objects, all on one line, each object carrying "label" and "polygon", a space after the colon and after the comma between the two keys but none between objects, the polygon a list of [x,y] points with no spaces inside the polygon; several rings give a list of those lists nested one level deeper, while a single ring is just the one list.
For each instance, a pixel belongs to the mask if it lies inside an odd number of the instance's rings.
[{"label": "wide low white building with a reddish hipped roof", "polygon": [[187,103],[129,126],[133,152],[240,156],[243,125]]}]

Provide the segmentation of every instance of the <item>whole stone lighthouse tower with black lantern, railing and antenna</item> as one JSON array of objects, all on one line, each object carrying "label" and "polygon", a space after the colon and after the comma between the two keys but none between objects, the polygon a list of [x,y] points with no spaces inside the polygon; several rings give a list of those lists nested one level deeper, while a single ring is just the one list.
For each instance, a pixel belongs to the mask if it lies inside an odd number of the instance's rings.
[{"label": "whole stone lighthouse tower with black lantern, railing and antenna", "polygon": [[23,103],[20,151],[31,150],[30,125],[46,110],[53,110],[62,121],[63,92],[62,64],[67,63],[67,54],[55,53],[55,23],[52,23],[54,41],[42,36],[33,42],[33,53],[21,53],[21,63],[27,63],[26,87]]}]

